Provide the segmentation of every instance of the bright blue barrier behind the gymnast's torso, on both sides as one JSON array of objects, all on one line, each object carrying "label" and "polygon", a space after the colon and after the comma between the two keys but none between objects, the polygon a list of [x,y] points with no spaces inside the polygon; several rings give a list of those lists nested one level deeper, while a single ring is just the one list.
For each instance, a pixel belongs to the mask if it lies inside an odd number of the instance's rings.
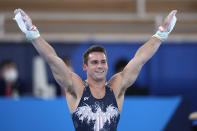
[{"label": "bright blue barrier behind the gymnast's torso, on both sides", "polygon": [[[181,97],[126,97],[118,131],[160,131],[181,102]],[[0,98],[1,131],[72,131],[64,98]]]}]

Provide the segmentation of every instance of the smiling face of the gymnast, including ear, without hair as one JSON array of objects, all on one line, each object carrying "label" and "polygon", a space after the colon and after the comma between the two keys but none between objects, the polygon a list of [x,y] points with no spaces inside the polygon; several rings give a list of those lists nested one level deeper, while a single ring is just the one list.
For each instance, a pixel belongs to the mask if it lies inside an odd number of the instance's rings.
[{"label": "smiling face of the gymnast, including ear, without hair", "polygon": [[83,65],[83,69],[87,71],[87,76],[95,81],[105,80],[108,65],[107,58],[102,52],[92,52],[88,56],[87,65]]}]

